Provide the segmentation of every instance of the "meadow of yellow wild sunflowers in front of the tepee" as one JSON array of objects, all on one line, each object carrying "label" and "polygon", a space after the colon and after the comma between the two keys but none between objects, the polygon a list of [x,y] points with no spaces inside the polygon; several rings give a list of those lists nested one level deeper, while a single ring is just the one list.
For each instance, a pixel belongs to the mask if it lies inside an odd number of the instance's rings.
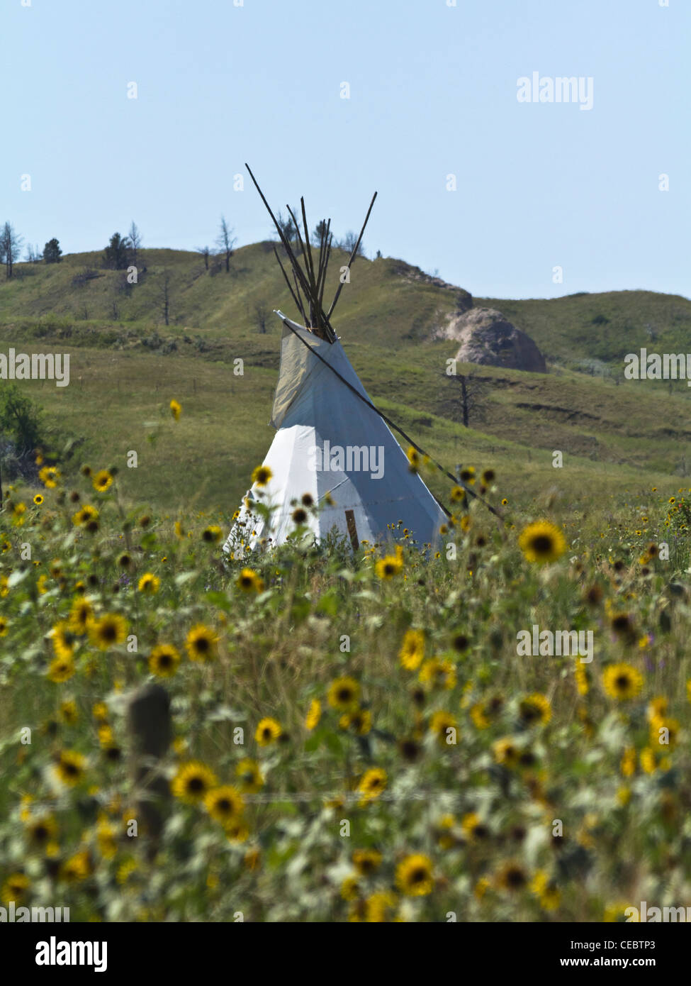
[{"label": "meadow of yellow wild sunflowers in front of the tepee", "polygon": [[[0,514],[5,905],[587,922],[691,901],[689,490],[518,509],[479,463],[463,486],[501,519],[459,486],[436,545],[314,546],[308,496],[286,544],[228,555],[228,516],[39,465]],[[591,658],[545,628],[591,632]]]}]

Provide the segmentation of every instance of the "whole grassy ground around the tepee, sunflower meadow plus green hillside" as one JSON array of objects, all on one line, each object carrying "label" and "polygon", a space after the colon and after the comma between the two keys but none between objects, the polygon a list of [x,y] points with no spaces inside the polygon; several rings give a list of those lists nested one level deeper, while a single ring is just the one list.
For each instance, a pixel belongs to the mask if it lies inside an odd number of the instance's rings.
[{"label": "whole grassy ground around the tepee, sunflower meadow plus green hillside", "polygon": [[[351,362],[435,458],[474,466],[476,489],[494,471],[503,520],[455,503],[429,557],[316,551],[297,528],[224,559],[273,434],[280,325],[254,310],[294,313],[266,245],[231,275],[143,261],[131,291],[96,254],[0,285],[0,352],[71,357],[69,387],[22,385],[60,475],[5,477],[0,513],[2,905],[544,922],[691,905],[691,404],[683,382],[621,373],[640,346],[682,351],[691,303],[476,300],[550,372],[459,367],[466,428],[455,346],[434,341],[456,292],[359,260],[336,319]],[[533,626],[591,633],[592,660],[522,653]]]}]

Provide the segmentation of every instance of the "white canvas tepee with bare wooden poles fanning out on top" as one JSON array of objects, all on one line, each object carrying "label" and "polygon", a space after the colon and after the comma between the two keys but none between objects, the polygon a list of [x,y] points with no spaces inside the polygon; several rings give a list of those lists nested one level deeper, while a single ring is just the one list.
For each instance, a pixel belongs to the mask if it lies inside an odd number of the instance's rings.
[{"label": "white canvas tepee with bare wooden poles fanning out on top", "polygon": [[[275,313],[284,326],[270,422],[276,435],[259,475],[242,500],[224,550],[237,556],[257,543],[280,544],[299,525],[317,541],[335,528],[356,549],[363,542],[372,545],[406,534],[420,546],[432,544],[446,520],[445,511],[418,473],[411,470],[408,457],[387,427],[388,419],[370,400],[331,326],[342,279],[328,312],[324,312],[330,220],[320,224],[318,254],[315,249],[312,255],[304,200],[305,242],[296,217],[288,209],[303,267],[248,167],[247,171],[290,260],[293,285],[276,252],[304,323],[280,311]],[[376,197],[377,193],[348,268],[357,255]]]}]

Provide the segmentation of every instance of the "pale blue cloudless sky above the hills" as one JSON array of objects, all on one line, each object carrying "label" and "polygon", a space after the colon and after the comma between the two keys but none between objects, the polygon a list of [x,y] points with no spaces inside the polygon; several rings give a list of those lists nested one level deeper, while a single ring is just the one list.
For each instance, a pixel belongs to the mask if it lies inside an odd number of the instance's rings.
[{"label": "pale blue cloudless sky above the hills", "polygon": [[[0,0],[0,219],[191,249],[224,212],[252,243],[247,161],[338,234],[377,189],[367,252],[476,296],[688,297],[691,0],[660,2]],[[533,72],[591,77],[592,108],[518,102]]]}]

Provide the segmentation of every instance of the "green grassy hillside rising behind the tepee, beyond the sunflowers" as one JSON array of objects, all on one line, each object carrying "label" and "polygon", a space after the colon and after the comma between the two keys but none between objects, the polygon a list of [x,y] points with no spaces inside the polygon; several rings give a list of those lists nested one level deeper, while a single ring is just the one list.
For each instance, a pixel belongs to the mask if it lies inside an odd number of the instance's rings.
[{"label": "green grassy hillside rising behind the tepee, beyond the sunflowers", "polygon": [[[79,461],[120,466],[127,497],[231,511],[273,434],[281,325],[271,309],[296,315],[272,245],[239,249],[230,274],[215,257],[207,270],[196,253],[141,250],[134,285],[125,272],[104,270],[101,258],[18,264],[0,283],[0,351],[70,353],[69,387],[23,386],[77,440]],[[335,251],[327,296],[345,262]],[[515,498],[552,486],[587,497],[683,481],[691,466],[688,387],[625,382],[622,370],[624,355],[641,346],[684,351],[691,302],[644,291],[475,299],[526,331],[550,372],[459,367],[472,391],[465,428],[458,381],[446,374],[457,344],[435,341],[460,291],[404,261],[362,258],[334,318],[373,400],[435,458],[451,467],[492,464]],[[172,397],[184,409],[177,423],[168,414]],[[136,469],[124,468],[131,450]],[[551,466],[555,450],[565,455],[563,469]],[[447,480],[432,485],[448,493]]]}]

